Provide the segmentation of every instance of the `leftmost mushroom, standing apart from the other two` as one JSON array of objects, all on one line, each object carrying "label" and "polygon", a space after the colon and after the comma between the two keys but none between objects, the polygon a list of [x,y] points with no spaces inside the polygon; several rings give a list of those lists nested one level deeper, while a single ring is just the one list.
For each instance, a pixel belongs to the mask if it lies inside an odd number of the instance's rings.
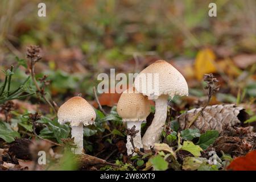
[{"label": "leftmost mushroom, standing apart from the other two", "polygon": [[84,130],[82,125],[88,126],[94,123],[96,113],[93,107],[82,97],[72,97],[60,106],[57,117],[61,125],[70,122],[71,135],[77,146],[73,148],[73,151],[75,154],[82,154],[84,150]]}]

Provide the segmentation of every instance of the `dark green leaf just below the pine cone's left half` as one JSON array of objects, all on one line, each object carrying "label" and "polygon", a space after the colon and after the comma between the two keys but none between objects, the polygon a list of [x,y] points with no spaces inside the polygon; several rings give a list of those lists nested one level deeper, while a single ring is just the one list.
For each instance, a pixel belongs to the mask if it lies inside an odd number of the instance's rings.
[{"label": "dark green leaf just below the pine cone's left half", "polygon": [[197,144],[203,148],[203,150],[207,149],[214,141],[218,138],[218,131],[217,130],[209,130],[206,131],[204,134],[201,134],[199,141]]}]

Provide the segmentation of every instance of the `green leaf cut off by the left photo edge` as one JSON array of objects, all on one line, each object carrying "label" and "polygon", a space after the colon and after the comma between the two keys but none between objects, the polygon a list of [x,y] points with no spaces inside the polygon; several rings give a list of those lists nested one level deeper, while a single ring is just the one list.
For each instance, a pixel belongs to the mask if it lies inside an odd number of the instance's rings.
[{"label": "green leaf cut off by the left photo edge", "polygon": [[20,135],[18,132],[11,129],[11,126],[8,123],[0,122],[0,138],[5,140],[7,143],[14,142],[15,138],[19,138]]}]

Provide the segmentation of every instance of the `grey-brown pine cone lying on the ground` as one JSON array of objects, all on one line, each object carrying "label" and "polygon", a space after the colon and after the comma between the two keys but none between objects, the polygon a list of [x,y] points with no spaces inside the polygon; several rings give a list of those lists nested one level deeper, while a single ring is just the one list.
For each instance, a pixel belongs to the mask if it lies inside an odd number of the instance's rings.
[{"label": "grey-brown pine cone lying on the ground", "polygon": [[[193,121],[195,115],[203,107],[197,109],[188,110],[186,113],[181,114],[177,121],[180,124],[180,129],[184,130],[188,127],[189,122]],[[243,107],[229,105],[213,105],[205,107],[203,113],[199,115],[191,128],[197,128],[204,133],[207,130],[217,130],[219,133],[223,131],[224,126],[237,126],[240,125],[241,120],[238,118],[238,114],[241,114],[243,121],[247,117],[247,113]],[[245,114],[245,115],[244,115]]]}]

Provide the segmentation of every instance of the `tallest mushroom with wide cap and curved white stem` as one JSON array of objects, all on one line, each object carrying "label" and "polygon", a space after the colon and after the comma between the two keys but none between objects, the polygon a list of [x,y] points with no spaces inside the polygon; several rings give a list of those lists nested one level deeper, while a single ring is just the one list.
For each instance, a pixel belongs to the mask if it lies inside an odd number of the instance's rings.
[{"label": "tallest mushroom with wide cap and curved white stem", "polygon": [[139,73],[134,86],[139,93],[155,99],[154,119],[142,138],[144,149],[149,150],[160,140],[167,117],[168,97],[187,96],[188,85],[177,69],[164,60],[158,60]]}]

